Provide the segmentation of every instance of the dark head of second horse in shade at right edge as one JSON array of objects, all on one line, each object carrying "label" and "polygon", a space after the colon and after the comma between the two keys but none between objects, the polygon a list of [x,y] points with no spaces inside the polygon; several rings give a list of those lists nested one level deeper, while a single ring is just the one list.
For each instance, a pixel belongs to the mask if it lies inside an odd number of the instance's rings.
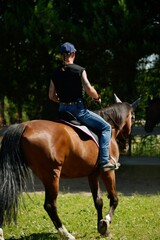
[{"label": "dark head of second horse in shade at right edge", "polygon": [[152,132],[154,127],[160,122],[160,98],[151,99],[148,97],[146,106],[146,122],[144,129]]}]

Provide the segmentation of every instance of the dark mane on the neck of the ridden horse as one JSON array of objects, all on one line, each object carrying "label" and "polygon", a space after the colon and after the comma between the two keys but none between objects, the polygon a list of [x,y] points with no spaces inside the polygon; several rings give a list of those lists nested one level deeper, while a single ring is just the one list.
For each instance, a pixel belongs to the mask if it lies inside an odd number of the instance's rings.
[{"label": "dark mane on the neck of the ridden horse", "polygon": [[124,123],[131,106],[127,102],[114,103],[98,111],[98,114],[109,122],[113,127],[118,129]]}]

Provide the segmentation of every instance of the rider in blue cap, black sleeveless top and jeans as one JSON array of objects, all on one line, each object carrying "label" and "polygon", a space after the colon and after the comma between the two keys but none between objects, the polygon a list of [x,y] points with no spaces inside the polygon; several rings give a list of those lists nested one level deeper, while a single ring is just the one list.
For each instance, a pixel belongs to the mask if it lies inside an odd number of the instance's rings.
[{"label": "rider in blue cap, black sleeveless top and jeans", "polygon": [[102,117],[86,108],[83,89],[97,103],[101,102],[101,97],[91,86],[85,68],[74,64],[76,55],[74,45],[69,42],[62,44],[60,53],[63,62],[52,73],[49,98],[60,103],[60,112],[71,112],[82,124],[98,132],[100,169],[102,171],[117,169],[116,162],[109,159],[111,126]]}]

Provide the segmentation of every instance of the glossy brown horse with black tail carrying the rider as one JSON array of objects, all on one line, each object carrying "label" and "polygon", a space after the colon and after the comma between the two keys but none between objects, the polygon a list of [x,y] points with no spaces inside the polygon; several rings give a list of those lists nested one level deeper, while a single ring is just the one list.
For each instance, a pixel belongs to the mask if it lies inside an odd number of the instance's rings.
[{"label": "glossy brown horse with black tail carrying the rider", "polygon": [[[119,101],[119,100],[118,100]],[[118,162],[116,137],[120,132],[128,136],[134,119],[137,100],[133,104],[118,102],[99,111],[112,125],[110,155]],[[63,239],[75,239],[62,224],[57,213],[59,180],[88,177],[98,215],[98,232],[108,236],[118,197],[115,171],[101,172],[98,167],[98,147],[91,137],[77,133],[60,122],[33,120],[11,125],[2,140],[0,150],[0,234],[4,221],[16,220],[18,195],[27,190],[26,181],[32,170],[45,188],[44,209]],[[99,178],[102,178],[110,199],[110,209],[103,218],[103,201]]]}]

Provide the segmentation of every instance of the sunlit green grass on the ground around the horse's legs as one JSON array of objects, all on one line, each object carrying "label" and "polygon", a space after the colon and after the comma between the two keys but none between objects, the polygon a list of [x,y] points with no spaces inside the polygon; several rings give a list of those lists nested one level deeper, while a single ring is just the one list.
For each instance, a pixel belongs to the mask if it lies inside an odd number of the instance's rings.
[{"label": "sunlit green grass on the ground around the horse's legs", "polygon": [[[4,226],[6,240],[57,240],[59,235],[43,209],[44,194],[25,196],[26,208],[20,207],[18,223]],[[119,194],[119,205],[110,225],[114,240],[159,240],[160,195]],[[109,209],[109,200],[103,194],[104,214]],[[60,194],[58,212],[64,225],[77,240],[101,238],[97,232],[97,216],[92,197],[83,194]]]}]

